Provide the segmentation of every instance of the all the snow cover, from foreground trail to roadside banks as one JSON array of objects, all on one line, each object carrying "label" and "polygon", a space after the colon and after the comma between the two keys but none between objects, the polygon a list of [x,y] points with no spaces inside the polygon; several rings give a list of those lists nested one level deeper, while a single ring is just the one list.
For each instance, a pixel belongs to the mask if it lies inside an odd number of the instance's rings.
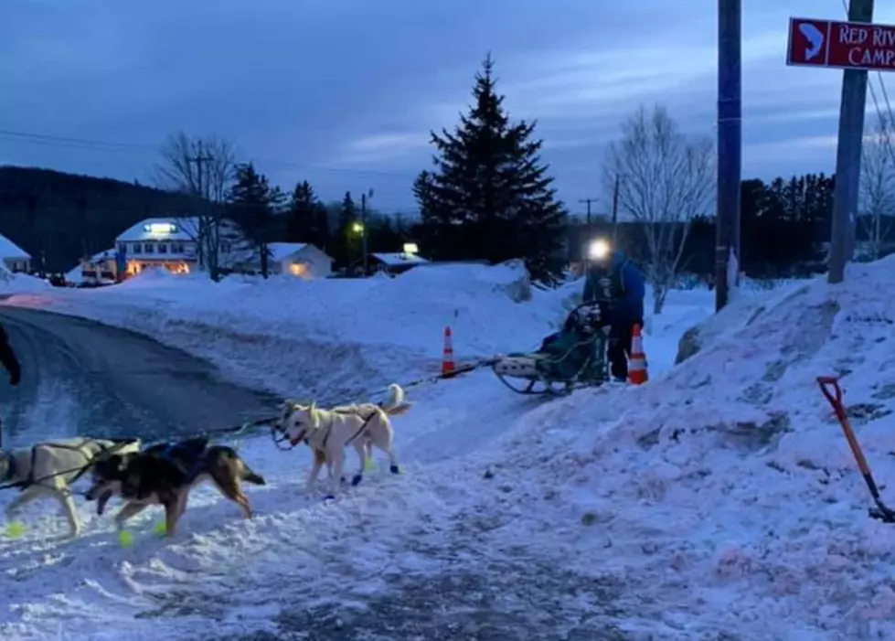
[{"label": "all the snow cover, from foreground trail to roadside banks", "polygon": [[[486,371],[410,387],[416,405],[395,419],[403,474],[377,456],[332,505],[302,491],[306,450],[250,438],[240,454],[268,480],[248,489],[250,521],[201,488],[175,539],[155,537],[156,512],[122,549],[87,506],[80,540],[36,506],[26,534],[0,542],[0,637],[413,638],[389,621],[416,617],[444,638],[495,633],[495,620],[507,640],[892,638],[895,529],[868,518],[815,377],[842,377],[885,486],[893,267],[713,317],[711,293],[673,292],[647,321],[638,388],[531,400]],[[581,283],[524,300],[525,281],[513,265],[311,283],[159,273],[6,302],[129,327],[328,403],[432,376],[444,326],[460,360],[535,347]],[[695,324],[700,351],[672,368]]]}]

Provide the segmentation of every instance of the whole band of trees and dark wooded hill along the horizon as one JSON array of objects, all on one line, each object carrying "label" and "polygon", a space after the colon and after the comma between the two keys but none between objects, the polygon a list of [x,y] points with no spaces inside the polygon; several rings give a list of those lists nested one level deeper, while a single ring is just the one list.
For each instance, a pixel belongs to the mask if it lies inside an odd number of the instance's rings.
[{"label": "whole band of trees and dark wooded hill along the horizon", "polygon": [[[583,258],[595,234],[613,233],[642,265],[656,311],[682,273],[713,272],[715,153],[709,136],[685,134],[661,105],[639,107],[623,121],[594,176],[605,202],[617,209],[618,226],[612,229],[605,211],[583,225],[552,187],[537,122],[512,120],[496,88],[489,56],[459,123],[431,132],[432,164],[412,185],[419,219],[369,208],[371,194],[346,192],[339,202],[323,202],[303,179],[283,190],[250,160],[238,159],[228,141],[180,133],[162,147],[154,187],[0,167],[0,233],[52,261],[59,250],[70,264],[111,247],[117,233],[140,219],[178,211],[201,221],[199,235],[209,245],[219,241],[220,220],[237,220],[260,250],[262,272],[274,241],[312,242],[341,267],[357,266],[364,240],[368,251],[400,251],[413,241],[436,261],[521,258],[544,283],[555,283],[570,261]],[[869,257],[891,246],[891,131],[880,120],[865,144],[856,249]],[[72,188],[79,181],[89,189]],[[741,270],[775,277],[825,269],[833,187],[834,177],[823,174],[743,181]],[[91,193],[84,196],[85,190]],[[116,208],[116,198],[130,199],[129,206]],[[213,263],[217,251],[202,251]],[[208,268],[218,276],[218,265]]]}]

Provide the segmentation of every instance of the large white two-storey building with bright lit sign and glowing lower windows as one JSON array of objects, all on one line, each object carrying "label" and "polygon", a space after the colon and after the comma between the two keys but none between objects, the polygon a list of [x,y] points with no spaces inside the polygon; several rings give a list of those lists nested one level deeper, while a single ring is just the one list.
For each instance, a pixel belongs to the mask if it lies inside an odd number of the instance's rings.
[{"label": "large white two-storey building with bright lit sign and glowing lower windows", "polygon": [[[200,249],[208,243],[197,217],[145,219],[125,230],[115,239],[115,248],[124,254],[127,274],[140,273],[150,267],[162,267],[172,273],[189,273],[204,269]],[[201,245],[200,245],[201,243]],[[218,242],[218,267],[227,268],[245,251],[245,237],[231,220],[221,220]]]}]

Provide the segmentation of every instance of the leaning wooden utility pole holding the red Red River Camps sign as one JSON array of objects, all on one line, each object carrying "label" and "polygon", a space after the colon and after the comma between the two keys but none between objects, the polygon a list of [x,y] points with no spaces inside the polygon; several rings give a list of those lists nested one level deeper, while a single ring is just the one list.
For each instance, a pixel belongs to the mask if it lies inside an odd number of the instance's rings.
[{"label": "leaning wooden utility pole holding the red Red River Camps sign", "polygon": [[[851,0],[849,22],[873,22],[873,0]],[[830,264],[826,280],[842,283],[846,263],[854,250],[858,186],[861,176],[861,144],[864,139],[864,108],[867,103],[867,71],[842,72],[842,101],[839,103],[839,134],[836,141],[836,185],[833,189],[833,224],[830,230]]]}]

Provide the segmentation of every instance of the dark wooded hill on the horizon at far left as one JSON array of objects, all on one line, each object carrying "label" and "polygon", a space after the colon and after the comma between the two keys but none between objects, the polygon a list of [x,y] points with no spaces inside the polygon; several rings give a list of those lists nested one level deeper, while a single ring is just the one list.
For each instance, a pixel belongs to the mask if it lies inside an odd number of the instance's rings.
[{"label": "dark wooded hill on the horizon at far left", "polygon": [[180,212],[183,197],[112,178],[0,166],[0,234],[33,257],[32,267],[67,272],[112,248],[142,219]]}]

